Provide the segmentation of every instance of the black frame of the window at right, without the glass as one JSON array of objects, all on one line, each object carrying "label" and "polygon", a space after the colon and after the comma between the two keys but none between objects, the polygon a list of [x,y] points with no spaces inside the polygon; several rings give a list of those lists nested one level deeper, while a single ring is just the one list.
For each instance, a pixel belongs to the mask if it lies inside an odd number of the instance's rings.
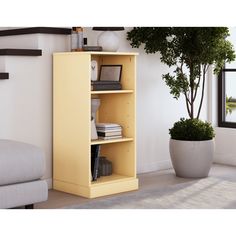
[{"label": "black frame of the window at right, without the glass", "polygon": [[218,76],[218,126],[236,128],[236,121],[225,121],[225,72],[236,72],[236,69],[224,67]]}]

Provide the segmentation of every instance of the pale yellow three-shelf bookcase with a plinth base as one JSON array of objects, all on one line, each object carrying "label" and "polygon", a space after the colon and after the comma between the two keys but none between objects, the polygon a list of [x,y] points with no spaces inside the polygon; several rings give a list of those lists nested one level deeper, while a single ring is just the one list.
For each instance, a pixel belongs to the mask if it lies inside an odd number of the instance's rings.
[{"label": "pale yellow three-shelf bookcase with a plinth base", "polygon": [[[87,198],[138,189],[136,177],[136,53],[53,55],[53,188]],[[91,60],[122,65],[122,90],[91,91]],[[118,123],[123,138],[91,141],[91,98],[97,122]],[[112,161],[113,174],[91,180],[91,145]]]}]

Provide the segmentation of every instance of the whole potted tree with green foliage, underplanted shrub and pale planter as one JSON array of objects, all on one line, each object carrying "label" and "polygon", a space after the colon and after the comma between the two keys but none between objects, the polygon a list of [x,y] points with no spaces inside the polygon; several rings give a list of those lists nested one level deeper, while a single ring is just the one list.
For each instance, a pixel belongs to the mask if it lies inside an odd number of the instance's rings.
[{"label": "whole potted tree with green foliage, underplanted shrub and pale planter", "polygon": [[161,62],[173,68],[173,73],[162,75],[170,93],[175,99],[181,94],[185,97],[189,119],[182,118],[169,130],[170,155],[177,176],[208,176],[214,130],[199,117],[209,66],[219,73],[225,62],[235,59],[228,36],[226,27],[135,27],[127,33],[132,47],[144,44],[146,53],[160,53]]}]

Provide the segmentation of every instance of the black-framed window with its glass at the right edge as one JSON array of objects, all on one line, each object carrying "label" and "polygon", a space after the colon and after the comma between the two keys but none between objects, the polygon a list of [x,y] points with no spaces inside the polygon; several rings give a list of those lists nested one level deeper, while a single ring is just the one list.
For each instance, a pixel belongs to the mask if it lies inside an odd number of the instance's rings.
[{"label": "black-framed window with its glass at the right edge", "polygon": [[226,64],[218,78],[218,125],[236,128],[236,62]]}]

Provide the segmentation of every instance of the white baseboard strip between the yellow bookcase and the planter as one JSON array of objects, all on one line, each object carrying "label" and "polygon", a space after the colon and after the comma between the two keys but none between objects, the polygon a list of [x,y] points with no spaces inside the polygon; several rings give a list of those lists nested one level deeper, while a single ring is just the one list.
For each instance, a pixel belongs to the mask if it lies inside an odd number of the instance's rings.
[{"label": "white baseboard strip between the yellow bookcase and the planter", "polygon": [[158,161],[158,162],[152,162],[147,163],[145,165],[142,165],[140,168],[138,168],[137,172],[138,174],[151,172],[151,171],[158,171],[158,170],[166,170],[171,169],[172,164],[170,160],[164,160],[164,161]]}]

